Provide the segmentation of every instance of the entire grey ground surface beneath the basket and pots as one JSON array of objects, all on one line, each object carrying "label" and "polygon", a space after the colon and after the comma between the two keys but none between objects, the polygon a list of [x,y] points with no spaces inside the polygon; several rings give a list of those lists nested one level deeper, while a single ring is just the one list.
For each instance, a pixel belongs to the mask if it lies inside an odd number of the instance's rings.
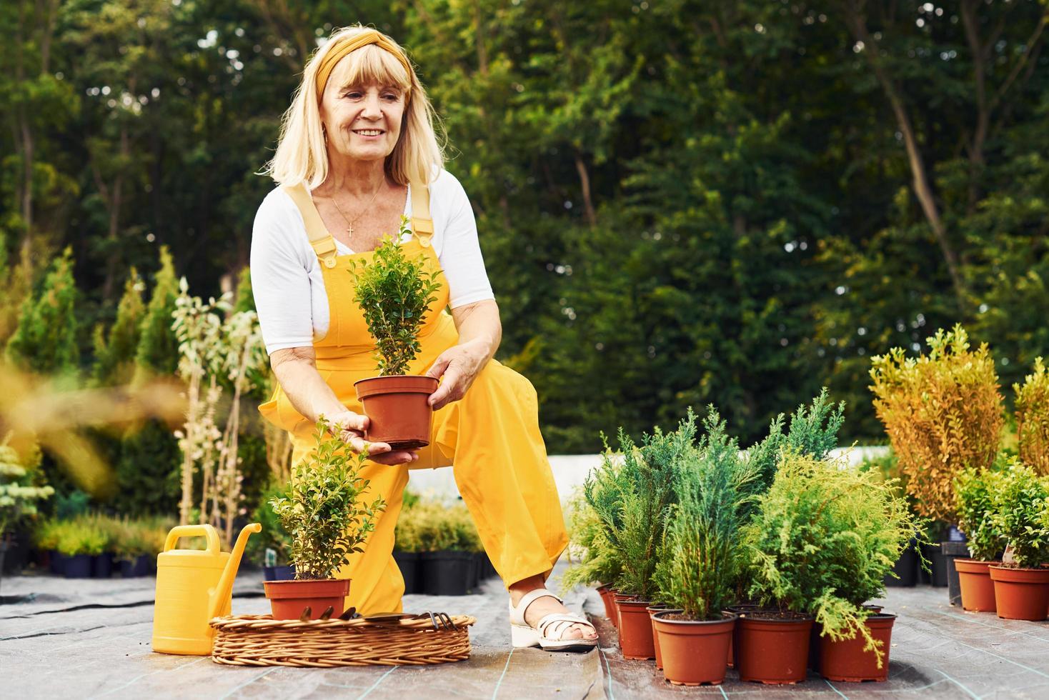
[{"label": "entire grey ground surface beneath the basket and pots", "polygon": [[[334,670],[235,668],[208,657],[150,651],[152,578],[67,581],[4,578],[3,593],[35,594],[0,606],[0,679],[9,698],[1049,698],[1049,622],[1000,620],[947,605],[944,589],[892,589],[899,615],[890,680],[829,683],[810,675],[787,687],[741,683],[729,671],[721,687],[668,685],[651,662],[624,660],[615,630],[593,591],[566,603],[584,609],[601,633],[590,654],[511,652],[506,593],[497,581],[475,595],[405,597],[406,610],[477,617],[470,659],[440,666]],[[261,576],[242,571],[238,614],[265,613]]]}]

